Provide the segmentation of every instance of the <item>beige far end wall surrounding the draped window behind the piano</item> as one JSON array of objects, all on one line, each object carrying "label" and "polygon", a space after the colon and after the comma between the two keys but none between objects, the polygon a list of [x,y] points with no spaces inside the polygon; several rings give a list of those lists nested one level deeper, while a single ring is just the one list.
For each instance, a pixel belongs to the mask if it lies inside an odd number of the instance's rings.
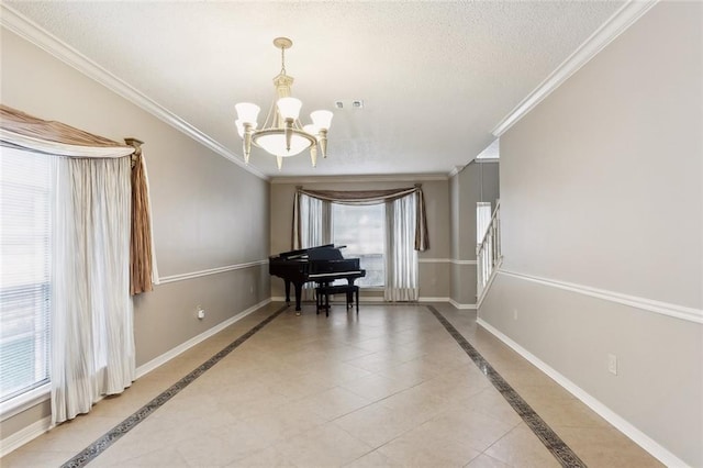
[{"label": "beige far end wall surrounding the draped window behind the piano", "polygon": [[[314,182],[300,182],[294,179],[277,180],[271,183],[270,192],[270,246],[271,254],[292,248],[291,226],[293,220],[293,196],[297,186],[311,190],[365,190],[412,187],[422,183],[427,210],[429,248],[419,254],[420,297],[448,298],[449,296],[449,186],[447,180],[423,180],[422,177],[406,181],[339,181],[338,178],[315,179]],[[292,288],[291,288],[292,289]],[[291,294],[293,292],[291,291]],[[271,297],[284,296],[283,281],[271,281]],[[379,297],[378,293],[362,292],[364,297]],[[382,294],[381,294],[382,297]]]}]

